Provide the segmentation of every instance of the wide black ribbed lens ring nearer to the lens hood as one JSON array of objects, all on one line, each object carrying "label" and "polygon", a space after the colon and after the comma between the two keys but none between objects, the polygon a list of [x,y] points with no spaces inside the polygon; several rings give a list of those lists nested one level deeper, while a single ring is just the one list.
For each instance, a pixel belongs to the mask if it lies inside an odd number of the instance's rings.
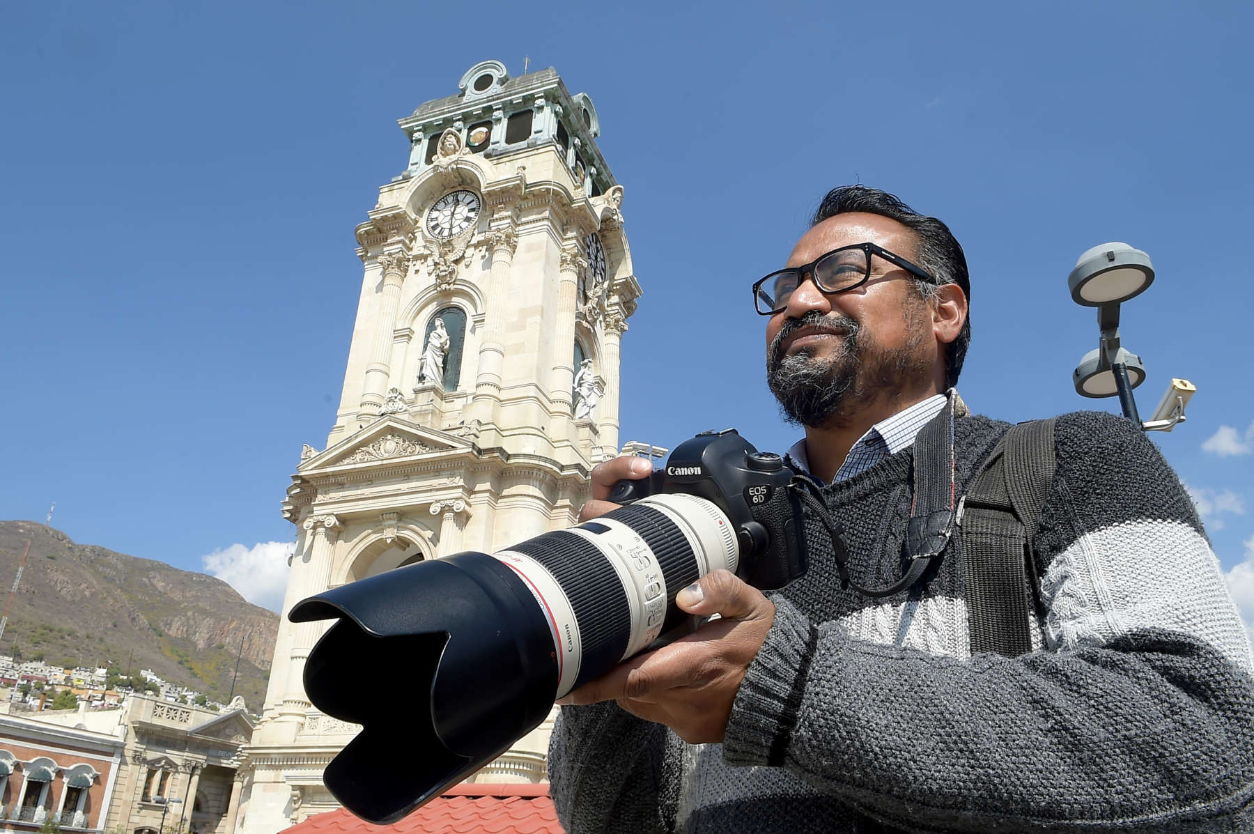
[{"label": "wide black ribbed lens ring nearer to the lens hood", "polygon": [[583,646],[574,685],[617,666],[631,638],[631,608],[622,579],[606,556],[588,539],[566,530],[544,533],[508,549],[543,564],[571,601]]}]

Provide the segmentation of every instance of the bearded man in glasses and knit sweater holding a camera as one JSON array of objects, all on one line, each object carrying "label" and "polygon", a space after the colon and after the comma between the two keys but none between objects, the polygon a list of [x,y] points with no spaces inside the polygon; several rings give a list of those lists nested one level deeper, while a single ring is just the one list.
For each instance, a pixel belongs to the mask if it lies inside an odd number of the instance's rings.
[{"label": "bearded man in glasses and knit sweater holding a camera", "polygon": [[[755,293],[767,379],[805,426],[850,581],[902,574],[914,438],[953,426],[963,494],[1008,429],[952,391],[969,339],[962,247],[864,187],[830,192]],[[724,572],[720,618],[563,699],[549,756],[568,831],[1250,831],[1254,658],[1201,523],[1137,426],[1058,418],[1032,536],[1033,651],[972,655],[962,538],[887,598],[811,534],[770,598]],[[586,518],[648,464],[593,473]]]}]

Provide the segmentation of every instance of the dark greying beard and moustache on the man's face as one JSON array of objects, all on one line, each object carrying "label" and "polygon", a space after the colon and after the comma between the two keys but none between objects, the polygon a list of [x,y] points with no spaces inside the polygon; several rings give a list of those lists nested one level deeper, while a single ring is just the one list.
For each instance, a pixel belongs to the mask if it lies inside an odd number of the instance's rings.
[{"label": "dark greying beard and moustache on the man's face", "polygon": [[[841,345],[826,359],[814,359],[809,347],[784,355],[780,346],[800,327],[841,334]],[[853,319],[813,310],[789,319],[766,351],[766,384],[779,400],[780,415],[798,425],[833,428],[879,395],[899,394],[904,384],[928,370],[917,350],[922,332],[910,331],[917,336],[900,350],[887,352],[869,341],[869,334]]]}]

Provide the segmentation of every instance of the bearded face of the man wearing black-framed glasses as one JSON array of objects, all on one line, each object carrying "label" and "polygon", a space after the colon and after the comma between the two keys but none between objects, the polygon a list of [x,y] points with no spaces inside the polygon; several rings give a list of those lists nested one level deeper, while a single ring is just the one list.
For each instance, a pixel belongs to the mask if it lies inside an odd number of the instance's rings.
[{"label": "bearded face of the man wearing black-framed glasses", "polygon": [[[848,213],[806,232],[786,266],[865,242],[917,262],[910,230],[879,214]],[[877,396],[930,379],[935,341],[929,307],[908,272],[872,256],[870,278],[834,295],[804,277],[788,307],[766,322],[766,379],[788,419],[835,425]]]}]

